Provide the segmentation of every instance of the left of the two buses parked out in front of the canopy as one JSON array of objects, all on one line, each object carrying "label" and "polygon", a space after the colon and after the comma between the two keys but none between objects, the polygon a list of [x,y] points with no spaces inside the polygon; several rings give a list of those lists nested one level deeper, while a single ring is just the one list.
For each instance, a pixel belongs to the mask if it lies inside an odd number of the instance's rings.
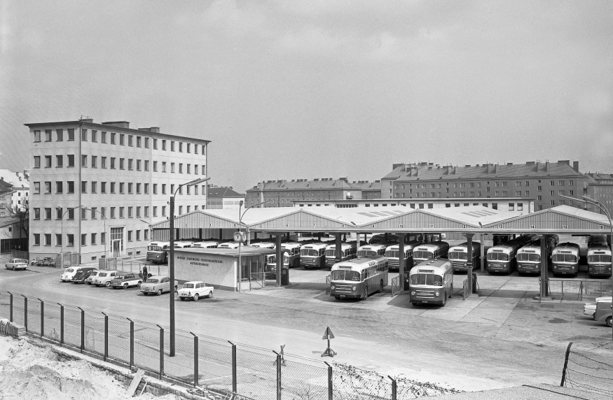
[{"label": "left of the two buses parked out in front of the canopy", "polygon": [[361,257],[337,262],[332,266],[330,296],[365,300],[387,286],[387,257]]}]

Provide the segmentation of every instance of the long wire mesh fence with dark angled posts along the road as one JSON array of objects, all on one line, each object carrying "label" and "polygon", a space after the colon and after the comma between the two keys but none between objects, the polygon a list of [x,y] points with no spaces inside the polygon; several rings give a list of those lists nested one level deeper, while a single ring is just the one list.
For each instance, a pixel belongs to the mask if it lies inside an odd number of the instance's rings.
[{"label": "long wire mesh fence with dark angled posts along the road", "polygon": [[[71,348],[149,376],[255,400],[414,399],[454,393],[432,383],[387,377],[332,362],[317,362],[264,348],[177,330],[170,357],[168,329],[67,304],[0,293],[0,320],[9,317],[28,335]],[[0,326],[4,333],[16,329]]]}]

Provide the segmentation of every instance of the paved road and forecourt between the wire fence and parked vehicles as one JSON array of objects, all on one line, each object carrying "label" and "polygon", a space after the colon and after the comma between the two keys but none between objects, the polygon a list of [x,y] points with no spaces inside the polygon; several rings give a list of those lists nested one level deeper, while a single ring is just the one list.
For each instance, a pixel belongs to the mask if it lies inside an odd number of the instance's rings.
[{"label": "paved road and forecourt between the wire fence and parked vehicles", "polygon": [[[27,297],[168,325],[169,294],[144,297],[137,289],[74,285],[61,283],[59,277],[60,270],[44,267],[28,271],[2,269],[0,292],[10,290]],[[569,303],[563,309],[559,305],[541,308],[502,297],[495,299],[496,304],[500,303],[500,310],[509,309],[509,315],[499,326],[421,315],[438,313],[436,307],[415,310],[399,306],[390,310],[387,306],[382,312],[378,305],[383,297],[390,297],[386,292],[374,294],[366,302],[339,302],[324,298],[318,287],[309,287],[308,283],[296,285],[301,295],[296,292],[295,297],[287,289],[275,291],[280,292],[278,296],[216,291],[213,299],[176,301],[177,329],[271,350],[284,344],[287,353],[321,362],[319,355],[326,348],[322,334],[329,326],[336,335],[332,341],[333,350],[338,352],[336,362],[384,374],[405,374],[460,390],[485,390],[559,384],[566,338],[572,338],[572,327],[565,328],[568,331],[561,340],[555,334],[555,322],[547,321],[555,321],[560,313],[574,318],[580,314],[577,308],[582,308],[577,303]],[[383,303],[394,304],[399,298],[383,299]],[[455,304],[457,310],[468,303]],[[453,312],[449,305],[441,313]],[[532,329],[532,321],[537,319],[539,325]],[[610,330],[589,324],[582,329],[574,340],[583,340],[584,349],[593,352],[593,357],[610,359]]]}]

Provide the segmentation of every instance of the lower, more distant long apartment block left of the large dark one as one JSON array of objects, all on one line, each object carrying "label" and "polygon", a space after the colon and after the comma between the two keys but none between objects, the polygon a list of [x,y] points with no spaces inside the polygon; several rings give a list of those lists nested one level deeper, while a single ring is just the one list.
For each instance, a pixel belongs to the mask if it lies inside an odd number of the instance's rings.
[{"label": "lower, more distant long apartment block left of the large dark one", "polygon": [[293,207],[296,200],[361,199],[362,187],[347,178],[268,180],[247,190],[247,206],[262,201],[264,207]]}]

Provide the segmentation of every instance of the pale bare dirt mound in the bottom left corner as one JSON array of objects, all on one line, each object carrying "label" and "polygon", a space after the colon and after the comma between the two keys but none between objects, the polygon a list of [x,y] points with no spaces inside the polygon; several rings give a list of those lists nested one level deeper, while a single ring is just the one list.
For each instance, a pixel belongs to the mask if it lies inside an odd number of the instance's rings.
[{"label": "pale bare dirt mound in the bottom left corner", "polygon": [[[137,393],[138,394],[138,393]],[[0,336],[0,400],[126,399],[126,387],[85,361],[64,360],[45,343]],[[177,399],[173,394],[139,399]]]}]

